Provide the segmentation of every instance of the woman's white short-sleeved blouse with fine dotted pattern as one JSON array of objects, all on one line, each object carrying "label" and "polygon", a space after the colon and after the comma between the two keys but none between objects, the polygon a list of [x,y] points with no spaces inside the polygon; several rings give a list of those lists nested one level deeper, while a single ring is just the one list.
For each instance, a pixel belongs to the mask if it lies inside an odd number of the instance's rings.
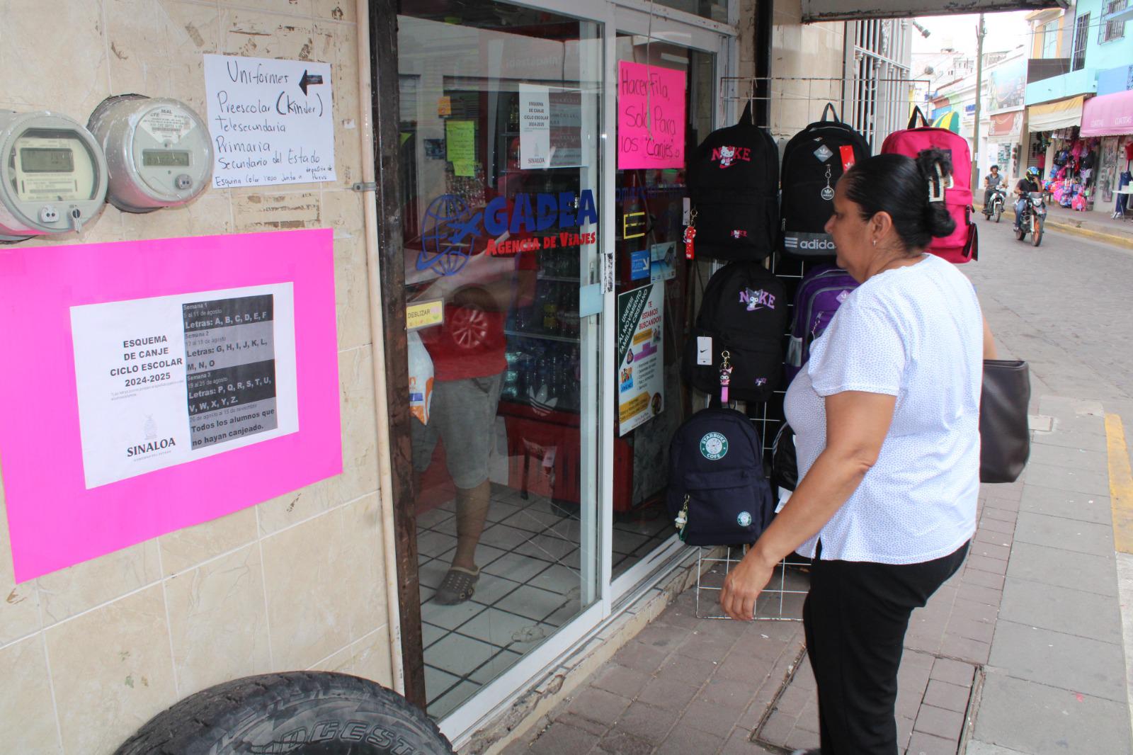
[{"label": "woman's white short-sleeved blouse with fine dotted pattern", "polygon": [[976,532],[983,321],[971,282],[931,255],[858,287],[810,347],[784,410],[800,480],[826,447],[824,397],[897,398],[880,456],[798,552],[824,560],[920,563]]}]

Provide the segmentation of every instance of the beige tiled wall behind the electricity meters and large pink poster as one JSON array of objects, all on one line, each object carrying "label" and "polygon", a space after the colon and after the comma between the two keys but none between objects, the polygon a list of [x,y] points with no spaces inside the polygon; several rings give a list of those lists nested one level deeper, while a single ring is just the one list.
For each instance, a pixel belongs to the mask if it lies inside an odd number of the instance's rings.
[{"label": "beige tiled wall behind the electricity meters and large pink poster", "polygon": [[80,237],[46,243],[333,228],[344,464],[334,478],[19,585],[0,514],[5,752],[109,754],[173,702],[249,673],[390,681],[363,205],[349,188],[360,177],[355,35],[352,0],[0,2],[0,109],[85,122],[103,97],[137,92],[204,113],[202,53],[331,63],[337,183],[210,189],[151,214],[108,206]]}]

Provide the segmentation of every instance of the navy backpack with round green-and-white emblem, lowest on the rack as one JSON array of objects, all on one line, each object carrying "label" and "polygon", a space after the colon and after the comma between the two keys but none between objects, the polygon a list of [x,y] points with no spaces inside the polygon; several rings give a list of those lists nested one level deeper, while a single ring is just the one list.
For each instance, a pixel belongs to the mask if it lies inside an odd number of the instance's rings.
[{"label": "navy backpack with round green-and-white emblem, lowest on the rack", "polygon": [[701,409],[668,447],[668,512],[689,545],[753,543],[775,515],[759,436],[735,409]]}]

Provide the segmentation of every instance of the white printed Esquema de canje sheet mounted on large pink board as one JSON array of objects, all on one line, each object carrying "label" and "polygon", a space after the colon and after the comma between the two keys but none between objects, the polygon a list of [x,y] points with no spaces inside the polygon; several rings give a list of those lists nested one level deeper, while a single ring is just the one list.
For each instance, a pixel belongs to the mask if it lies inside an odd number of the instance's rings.
[{"label": "white printed Esquema de canje sheet mounted on large pink board", "polygon": [[299,430],[291,283],[87,304],[70,319],[87,489]]}]

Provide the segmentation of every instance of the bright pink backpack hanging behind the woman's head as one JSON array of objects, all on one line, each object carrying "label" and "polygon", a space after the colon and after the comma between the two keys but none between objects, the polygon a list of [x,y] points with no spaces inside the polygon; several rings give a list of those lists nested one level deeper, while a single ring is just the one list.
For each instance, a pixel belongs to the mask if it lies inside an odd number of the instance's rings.
[{"label": "bright pink backpack hanging behind the woman's head", "polygon": [[[925,124],[915,128],[917,117]],[[953,186],[944,190],[944,204],[956,221],[956,230],[943,238],[934,238],[928,252],[954,264],[976,260],[979,252],[976,223],[972,222],[972,156],[968,139],[947,128],[932,128],[920,108],[913,110],[909,128],[894,132],[881,144],[881,154],[903,154],[917,158],[922,150],[936,147],[952,155]],[[928,192],[928,186],[925,187]]]}]

